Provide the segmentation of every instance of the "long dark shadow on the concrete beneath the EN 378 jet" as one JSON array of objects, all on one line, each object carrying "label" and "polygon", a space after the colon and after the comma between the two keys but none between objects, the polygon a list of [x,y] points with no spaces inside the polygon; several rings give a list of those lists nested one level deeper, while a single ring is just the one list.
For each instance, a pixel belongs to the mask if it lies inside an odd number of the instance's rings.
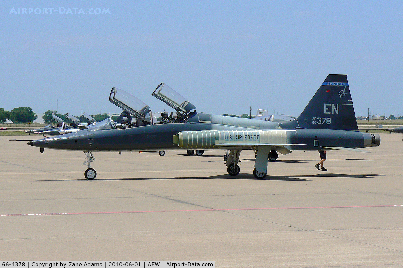
[{"label": "long dark shadow on the concrete beneath the EN 378 jet", "polygon": [[[345,177],[345,178],[370,178],[374,176],[384,176],[381,174],[337,174],[337,173],[321,173],[315,175],[283,175],[283,176],[270,176],[267,175],[264,179],[256,179],[253,175],[248,173],[240,173],[236,177],[228,174],[214,175],[209,177],[171,177],[171,178],[110,178],[110,179],[96,179],[94,181],[137,181],[137,180],[158,180],[158,179],[250,179],[250,180],[265,180],[265,181],[310,181],[312,177]],[[87,181],[83,179],[53,179],[52,181]]]}]

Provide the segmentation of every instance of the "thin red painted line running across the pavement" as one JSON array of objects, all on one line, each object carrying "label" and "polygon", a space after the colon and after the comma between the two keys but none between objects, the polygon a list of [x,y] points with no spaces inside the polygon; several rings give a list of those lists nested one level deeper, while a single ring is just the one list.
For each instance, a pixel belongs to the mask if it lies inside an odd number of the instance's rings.
[{"label": "thin red painted line running across the pavement", "polygon": [[151,213],[151,212],[192,212],[192,211],[229,211],[229,210],[270,210],[270,209],[307,209],[307,208],[386,208],[403,205],[380,206],[307,206],[291,208],[206,208],[185,210],[143,210],[143,211],[114,211],[114,212],[71,212],[71,213],[35,213],[35,214],[0,214],[0,216],[37,216],[37,215],[81,215],[81,214],[123,214],[123,213]]}]

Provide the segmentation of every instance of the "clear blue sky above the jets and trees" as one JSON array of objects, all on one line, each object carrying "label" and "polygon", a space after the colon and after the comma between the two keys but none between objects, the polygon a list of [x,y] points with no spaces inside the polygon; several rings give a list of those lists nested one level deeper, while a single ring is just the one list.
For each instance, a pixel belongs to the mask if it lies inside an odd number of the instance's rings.
[{"label": "clear blue sky above the jets and trees", "polygon": [[171,111],[151,95],[165,82],[200,112],[299,115],[334,73],[357,116],[403,115],[403,2],[336,2],[2,2],[0,107],[116,113],[118,87]]}]

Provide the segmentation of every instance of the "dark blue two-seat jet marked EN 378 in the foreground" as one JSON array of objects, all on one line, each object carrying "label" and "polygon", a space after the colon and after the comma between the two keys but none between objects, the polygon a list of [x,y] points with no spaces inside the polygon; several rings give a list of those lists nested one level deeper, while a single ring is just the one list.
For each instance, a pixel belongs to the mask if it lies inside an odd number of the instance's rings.
[{"label": "dark blue two-seat jet marked EN 378 in the foreground", "polygon": [[[158,87],[164,87],[160,84]],[[158,88],[157,88],[158,89]],[[160,93],[163,93],[160,90]],[[169,99],[169,95],[165,95]],[[90,167],[93,151],[139,151],[150,149],[194,148],[228,149],[229,175],[238,175],[239,155],[244,149],[256,150],[253,175],[267,173],[268,155],[292,150],[353,150],[379,146],[378,134],[359,132],[347,75],[329,74],[301,115],[291,122],[270,122],[190,112],[188,101],[175,101],[184,109],[172,124],[116,128],[110,119],[76,133],[28,142],[44,148],[84,151],[86,179],[94,179]],[[191,105],[193,106],[193,105]],[[193,107],[191,108],[193,109]]]}]

